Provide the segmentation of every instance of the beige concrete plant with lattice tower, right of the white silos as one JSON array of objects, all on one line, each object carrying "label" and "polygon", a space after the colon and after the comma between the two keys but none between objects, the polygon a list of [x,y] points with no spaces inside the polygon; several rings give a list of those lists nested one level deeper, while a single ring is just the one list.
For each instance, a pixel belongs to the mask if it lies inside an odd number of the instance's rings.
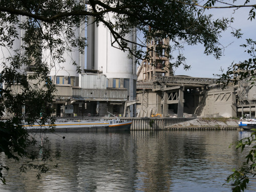
[{"label": "beige concrete plant with lattice tower, right of the white silos", "polygon": [[[164,50],[168,41],[162,42]],[[158,64],[164,63],[166,55],[157,55],[155,45],[154,40],[148,42],[152,59],[143,61],[137,73],[138,117],[255,116],[256,88],[253,85],[249,89],[246,79],[224,87],[214,78],[174,76],[170,67]],[[242,71],[235,69],[234,77]]]}]

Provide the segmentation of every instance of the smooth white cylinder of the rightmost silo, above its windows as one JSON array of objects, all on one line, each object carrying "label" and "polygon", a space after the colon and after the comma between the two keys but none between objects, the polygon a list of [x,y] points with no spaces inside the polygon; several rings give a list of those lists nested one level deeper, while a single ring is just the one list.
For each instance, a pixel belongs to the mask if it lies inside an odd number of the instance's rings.
[{"label": "smooth white cylinder of the rightmost silo, above its windows", "polygon": [[[136,33],[132,32],[126,37],[129,41],[136,40]],[[114,41],[110,31],[102,24],[95,28],[95,44],[94,44],[94,67],[103,72],[107,78],[128,78],[135,79],[136,67],[134,59],[128,58],[128,51],[122,51]],[[133,44],[129,44],[133,49]]]}]

